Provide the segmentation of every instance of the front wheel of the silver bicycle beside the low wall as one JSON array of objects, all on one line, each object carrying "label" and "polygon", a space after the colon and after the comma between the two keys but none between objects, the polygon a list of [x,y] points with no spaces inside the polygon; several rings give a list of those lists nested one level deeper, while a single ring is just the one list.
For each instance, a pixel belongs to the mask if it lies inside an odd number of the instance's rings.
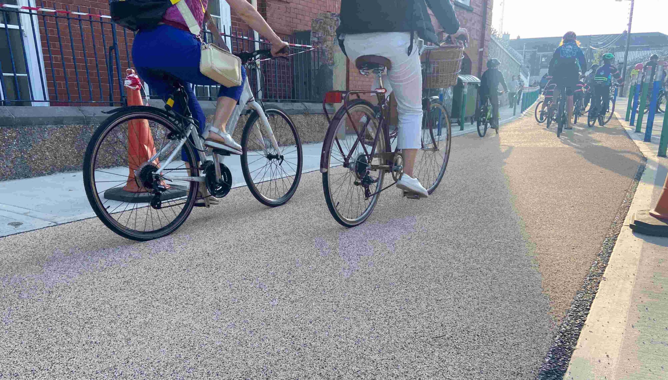
[{"label": "front wheel of the silver bicycle beside the low wall", "polygon": [[[276,207],[292,198],[301,180],[303,152],[297,128],[282,110],[265,110],[269,130],[257,111],[248,117],[241,136],[241,171],[248,190],[265,206]],[[270,133],[271,132],[271,133]],[[277,151],[271,141],[276,139]]]}]

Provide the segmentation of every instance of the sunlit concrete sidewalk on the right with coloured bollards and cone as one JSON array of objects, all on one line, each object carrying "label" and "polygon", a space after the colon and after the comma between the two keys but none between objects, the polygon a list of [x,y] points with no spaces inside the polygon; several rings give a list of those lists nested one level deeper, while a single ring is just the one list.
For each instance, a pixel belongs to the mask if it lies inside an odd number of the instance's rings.
[{"label": "sunlit concrete sidewalk on the right with coloured bollards and cone", "polygon": [[619,99],[616,116],[647,166],[564,379],[668,379],[668,238],[629,228],[636,211],[656,204],[668,174],[668,158],[657,157],[663,115],[651,142],[643,142],[645,124],[636,133],[625,114],[626,99]]}]

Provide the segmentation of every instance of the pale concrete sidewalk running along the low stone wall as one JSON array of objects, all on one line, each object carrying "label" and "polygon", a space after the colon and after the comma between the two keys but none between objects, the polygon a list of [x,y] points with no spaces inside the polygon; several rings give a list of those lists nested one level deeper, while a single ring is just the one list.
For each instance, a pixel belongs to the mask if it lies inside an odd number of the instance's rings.
[{"label": "pale concrete sidewalk running along the low stone wall", "polygon": [[[513,116],[512,108],[502,108],[500,125],[512,122],[521,116],[520,110]],[[464,124],[464,130],[460,130],[457,124],[452,125],[454,137],[472,132],[476,132],[475,124]],[[303,145],[303,173],[319,169],[321,150],[322,144]],[[225,164],[232,172],[232,188],[246,186],[241,175],[238,156],[230,157]],[[56,226],[93,216],[95,213],[83,190],[82,172],[0,182],[0,236]]]}]

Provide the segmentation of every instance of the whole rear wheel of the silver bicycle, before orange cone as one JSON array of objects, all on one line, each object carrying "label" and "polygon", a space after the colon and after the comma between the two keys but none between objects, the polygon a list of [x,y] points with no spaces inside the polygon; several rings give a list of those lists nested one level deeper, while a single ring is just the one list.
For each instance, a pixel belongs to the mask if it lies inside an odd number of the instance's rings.
[{"label": "whole rear wheel of the silver bicycle, before orange cone", "polygon": [[[142,126],[144,120],[148,120],[148,131]],[[145,141],[142,133],[146,132],[155,150],[137,152],[136,145],[131,146],[129,141],[141,144]],[[184,181],[186,186],[178,186],[163,180],[161,184],[169,190],[159,198],[152,194],[152,173],[174,152],[180,134],[180,128],[166,114],[151,107],[117,112],[93,134],[83,157],[83,187],[96,215],[110,230],[132,240],[152,240],[171,234],[188,218],[196,200],[197,182]],[[148,162],[156,152],[157,158]],[[192,168],[192,176],[199,175],[194,150],[185,144],[183,152],[186,160],[182,161],[180,152],[176,152],[175,160],[162,175],[189,176],[186,164]]]}]

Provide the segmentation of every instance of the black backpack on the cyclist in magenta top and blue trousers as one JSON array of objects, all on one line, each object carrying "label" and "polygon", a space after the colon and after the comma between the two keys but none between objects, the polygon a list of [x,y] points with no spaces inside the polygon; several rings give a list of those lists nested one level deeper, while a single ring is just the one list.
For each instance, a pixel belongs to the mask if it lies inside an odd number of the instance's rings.
[{"label": "black backpack on the cyclist in magenta top and blue trousers", "polygon": [[136,31],[158,25],[167,9],[176,3],[178,1],[109,0],[109,11],[115,23]]}]

